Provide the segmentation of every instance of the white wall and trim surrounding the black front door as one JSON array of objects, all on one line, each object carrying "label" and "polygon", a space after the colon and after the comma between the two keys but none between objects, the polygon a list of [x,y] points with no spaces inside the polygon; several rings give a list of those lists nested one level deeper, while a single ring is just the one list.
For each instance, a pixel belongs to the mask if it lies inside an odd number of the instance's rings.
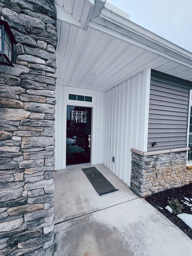
[{"label": "white wall and trim surrounding the black front door", "polygon": [[[69,100],[69,94],[92,97],[92,102]],[[91,164],[102,163],[104,92],[56,85],[55,95],[55,169],[66,168],[67,105],[92,108]]]}]

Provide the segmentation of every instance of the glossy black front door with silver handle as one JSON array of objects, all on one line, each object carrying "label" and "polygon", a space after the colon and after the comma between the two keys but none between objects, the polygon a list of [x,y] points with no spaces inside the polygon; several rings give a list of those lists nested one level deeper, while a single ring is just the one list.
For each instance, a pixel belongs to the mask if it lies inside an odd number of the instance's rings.
[{"label": "glossy black front door with silver handle", "polygon": [[66,164],[90,163],[91,108],[67,106]]}]

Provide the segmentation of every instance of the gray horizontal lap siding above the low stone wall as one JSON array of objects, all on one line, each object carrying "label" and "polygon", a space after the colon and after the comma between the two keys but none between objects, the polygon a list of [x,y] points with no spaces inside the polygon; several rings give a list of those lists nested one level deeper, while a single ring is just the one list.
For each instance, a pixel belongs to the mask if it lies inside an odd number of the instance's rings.
[{"label": "gray horizontal lap siding above the low stone wall", "polygon": [[[148,151],[187,146],[189,90],[192,83],[152,70]],[[157,146],[152,147],[152,142]]]}]

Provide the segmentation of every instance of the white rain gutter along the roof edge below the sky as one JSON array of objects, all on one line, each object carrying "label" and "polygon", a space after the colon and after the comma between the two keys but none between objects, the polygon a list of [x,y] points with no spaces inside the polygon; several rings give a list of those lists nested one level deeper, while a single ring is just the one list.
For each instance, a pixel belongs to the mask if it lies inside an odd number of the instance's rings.
[{"label": "white rain gutter along the roof edge below the sky", "polygon": [[112,13],[112,11],[107,8],[103,8],[101,14],[98,17],[91,19],[91,21],[119,32],[119,34],[133,38],[154,50],[159,50],[160,52],[165,53],[167,56],[172,56],[187,62],[188,64],[192,64],[192,53],[189,51],[184,50],[131,20],[121,17],[116,13]]}]

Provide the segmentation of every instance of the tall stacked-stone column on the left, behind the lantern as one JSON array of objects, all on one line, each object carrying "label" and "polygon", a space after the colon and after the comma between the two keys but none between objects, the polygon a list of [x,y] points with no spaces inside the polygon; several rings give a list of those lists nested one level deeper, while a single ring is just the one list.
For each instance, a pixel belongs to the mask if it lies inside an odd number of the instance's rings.
[{"label": "tall stacked-stone column on the left, behind the lantern", "polygon": [[1,0],[17,62],[0,65],[0,255],[52,255],[56,9]]}]

